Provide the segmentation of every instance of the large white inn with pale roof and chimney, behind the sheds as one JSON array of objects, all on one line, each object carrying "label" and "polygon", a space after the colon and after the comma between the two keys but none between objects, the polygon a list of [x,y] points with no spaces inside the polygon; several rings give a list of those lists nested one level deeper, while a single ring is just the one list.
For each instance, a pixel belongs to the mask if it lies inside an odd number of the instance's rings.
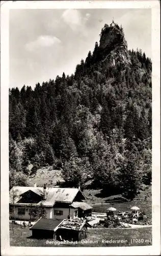
[{"label": "large white inn with pale roof and chimney, behind the sheds", "polygon": [[10,219],[75,219],[91,216],[92,207],[78,188],[13,187],[10,190]]}]

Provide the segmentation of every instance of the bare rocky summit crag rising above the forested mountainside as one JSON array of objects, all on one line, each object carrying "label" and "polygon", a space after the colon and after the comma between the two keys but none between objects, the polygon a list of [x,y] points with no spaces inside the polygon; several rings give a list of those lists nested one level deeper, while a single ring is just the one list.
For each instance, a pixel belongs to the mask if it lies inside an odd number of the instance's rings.
[{"label": "bare rocky summit crag rising above the forested mountainside", "polygon": [[123,30],[117,24],[104,26],[100,34],[99,49],[105,65],[115,66],[121,62],[126,66],[131,63]]}]

